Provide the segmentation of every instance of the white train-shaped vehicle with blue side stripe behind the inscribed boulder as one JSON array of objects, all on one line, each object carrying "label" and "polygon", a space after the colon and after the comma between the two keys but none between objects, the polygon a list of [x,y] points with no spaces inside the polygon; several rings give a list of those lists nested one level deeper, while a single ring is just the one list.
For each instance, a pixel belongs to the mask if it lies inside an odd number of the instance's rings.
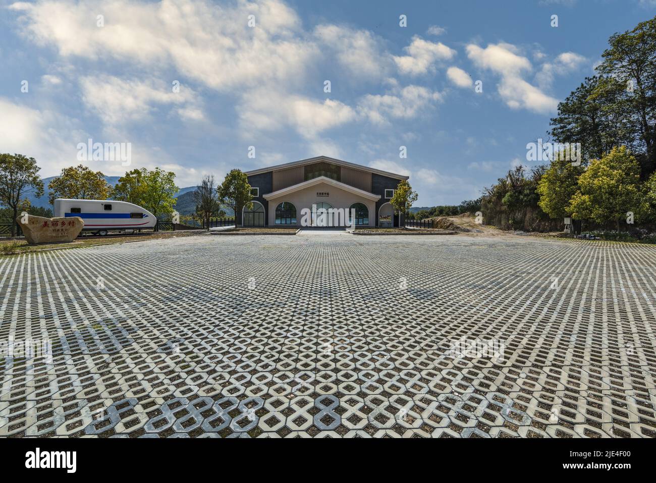
[{"label": "white train-shaped vehicle with blue side stripe behind the inscribed boulder", "polygon": [[150,211],[128,203],[115,200],[54,200],[55,217],[80,217],[84,221],[83,230],[106,235],[108,230],[137,230],[153,228],[157,223]]}]

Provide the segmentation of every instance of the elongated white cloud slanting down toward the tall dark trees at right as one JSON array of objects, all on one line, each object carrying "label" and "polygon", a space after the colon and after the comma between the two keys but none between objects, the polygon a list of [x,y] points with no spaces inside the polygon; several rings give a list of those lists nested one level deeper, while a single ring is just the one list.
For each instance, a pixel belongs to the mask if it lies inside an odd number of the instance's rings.
[{"label": "elongated white cloud slanting down toward the tall dark trees at right", "polygon": [[485,49],[470,44],[467,56],[476,66],[492,70],[501,76],[497,87],[499,95],[512,109],[527,109],[539,114],[550,114],[558,106],[558,100],[544,94],[523,79],[531,72],[531,62],[520,55],[519,49],[508,43],[489,44]]}]

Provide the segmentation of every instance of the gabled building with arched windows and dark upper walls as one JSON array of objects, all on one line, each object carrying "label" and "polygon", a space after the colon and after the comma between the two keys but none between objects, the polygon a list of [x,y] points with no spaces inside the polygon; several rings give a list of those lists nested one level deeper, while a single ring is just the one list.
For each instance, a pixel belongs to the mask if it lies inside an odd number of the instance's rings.
[{"label": "gabled building with arched windows and dark upper walls", "polygon": [[[407,176],[319,156],[247,171],[253,209],[236,213],[243,226],[300,226],[301,210],[353,208],[358,226],[402,226],[390,204]],[[313,220],[314,224],[314,220]]]}]

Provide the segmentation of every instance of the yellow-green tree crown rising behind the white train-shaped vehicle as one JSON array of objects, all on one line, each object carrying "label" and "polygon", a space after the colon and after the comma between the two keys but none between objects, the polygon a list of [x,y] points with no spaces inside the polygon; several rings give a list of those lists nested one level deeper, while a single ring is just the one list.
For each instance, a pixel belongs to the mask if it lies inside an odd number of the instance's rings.
[{"label": "yellow-green tree crown rising behind the white train-shaped vehicle", "polygon": [[105,175],[81,164],[62,169],[62,173],[50,182],[48,189],[51,205],[54,205],[57,198],[108,200],[112,196],[112,186],[105,180]]}]

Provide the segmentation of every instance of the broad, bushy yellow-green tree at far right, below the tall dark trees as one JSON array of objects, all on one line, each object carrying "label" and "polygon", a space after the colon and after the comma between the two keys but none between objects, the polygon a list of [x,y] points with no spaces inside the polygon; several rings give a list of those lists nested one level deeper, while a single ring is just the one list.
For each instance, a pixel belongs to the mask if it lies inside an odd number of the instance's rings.
[{"label": "broad, bushy yellow-green tree at far right, below the tall dark trees", "polygon": [[628,212],[635,219],[646,212],[640,186],[640,165],[625,146],[613,148],[601,159],[592,159],[579,177],[579,190],[567,210],[576,219],[598,223],[615,221],[617,232]]}]

